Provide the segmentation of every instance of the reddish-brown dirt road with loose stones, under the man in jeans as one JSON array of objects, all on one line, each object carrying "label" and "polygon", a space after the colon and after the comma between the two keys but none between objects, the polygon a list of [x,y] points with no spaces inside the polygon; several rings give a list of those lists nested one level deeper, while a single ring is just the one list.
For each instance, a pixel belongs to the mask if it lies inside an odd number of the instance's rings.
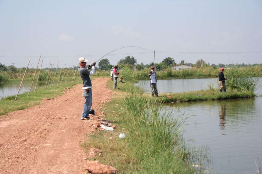
[{"label": "reddish-brown dirt road with loose stones, under the man in jeans", "polygon": [[84,173],[84,148],[79,143],[91,134],[112,98],[108,78],[92,80],[95,116],[81,120],[84,97],[81,84],[63,96],[9,113],[0,120],[0,173]]}]

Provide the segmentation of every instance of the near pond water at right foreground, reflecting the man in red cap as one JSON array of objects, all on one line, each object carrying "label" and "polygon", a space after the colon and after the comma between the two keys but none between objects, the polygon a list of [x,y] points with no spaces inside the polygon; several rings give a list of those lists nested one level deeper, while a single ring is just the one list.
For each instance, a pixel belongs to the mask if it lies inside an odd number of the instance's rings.
[{"label": "near pond water at right foreground, reflecting the man in red cap", "polygon": [[[185,140],[211,149],[214,171],[256,173],[254,160],[262,159],[262,97],[168,104],[190,117],[184,126]],[[173,112],[172,112],[173,114]],[[181,114],[179,114],[181,117]],[[190,141],[187,141],[188,143]]]}]

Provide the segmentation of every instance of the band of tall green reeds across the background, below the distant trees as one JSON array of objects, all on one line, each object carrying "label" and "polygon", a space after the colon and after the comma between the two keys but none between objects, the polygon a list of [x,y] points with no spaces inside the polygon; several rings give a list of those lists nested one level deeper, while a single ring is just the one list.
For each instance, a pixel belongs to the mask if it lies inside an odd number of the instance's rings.
[{"label": "band of tall green reeds across the background, below the distant trees", "polygon": [[[245,68],[234,68],[230,67],[230,69],[236,69],[235,71],[238,71],[238,73],[242,76],[243,74],[246,74],[245,77],[262,77],[262,66],[248,66]],[[227,69],[228,70],[228,69]],[[1,72],[0,76],[2,76],[2,79],[19,79],[23,77],[25,68],[19,68],[16,72]],[[77,71],[77,70],[76,70]],[[125,72],[126,71],[126,72]],[[149,79],[150,68],[145,68],[143,70],[133,70],[128,68],[121,68],[119,69],[119,76],[123,76],[126,80],[147,80]],[[167,68],[165,71],[157,71],[156,69],[156,76],[157,79],[187,79],[187,78],[217,78],[219,73],[219,68],[214,69],[210,66],[204,66],[204,67],[192,67],[191,69],[183,69],[180,71],[172,71],[170,68]],[[25,78],[33,77],[34,76],[35,69],[30,68]],[[37,74],[39,72],[39,69],[37,70]],[[62,69],[57,71],[59,74],[62,72],[62,77],[65,73],[68,73],[68,68]],[[226,71],[225,71],[226,73]],[[47,79],[48,70],[41,70],[40,73],[40,80],[46,80]],[[55,73],[52,73],[52,77]],[[75,77],[79,77],[78,73],[75,73],[74,69],[70,69],[68,73],[68,77],[73,77],[75,74]],[[249,76],[247,76],[249,75]],[[65,75],[66,76],[66,75]],[[95,71],[95,76],[97,77],[109,77],[110,76],[110,70],[102,71],[97,69]],[[51,78],[52,78],[51,77]],[[1,77],[0,77],[1,78]]]}]

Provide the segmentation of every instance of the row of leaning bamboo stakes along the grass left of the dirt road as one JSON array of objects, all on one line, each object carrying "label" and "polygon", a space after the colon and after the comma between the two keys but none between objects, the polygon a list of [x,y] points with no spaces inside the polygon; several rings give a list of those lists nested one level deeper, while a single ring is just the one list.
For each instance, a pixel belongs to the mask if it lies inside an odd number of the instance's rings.
[{"label": "row of leaning bamboo stakes along the grass left of the dirt road", "polygon": [[[34,77],[33,77],[33,80],[32,80],[32,84],[31,84],[31,87],[30,87],[30,89],[29,89],[29,92],[28,92],[28,95],[27,95],[27,96],[29,96],[30,91],[31,91],[31,89],[32,89],[32,86],[33,86],[33,83],[34,83],[34,79],[35,79],[35,75],[36,75],[36,72],[37,72],[37,68],[38,68],[40,59],[41,59],[41,56],[39,57],[39,60],[38,60],[38,63],[37,63],[36,69],[35,69]],[[25,69],[25,73],[24,73],[23,79],[22,79],[22,81],[21,81],[21,84],[20,84],[20,86],[19,86],[17,95],[15,96],[15,101],[16,101],[16,99],[17,99],[17,96],[18,96],[19,91],[20,91],[20,89],[21,89],[22,83],[23,83],[23,81],[24,81],[25,74],[26,74],[26,71],[27,71],[27,69],[28,69],[28,65],[29,65],[29,63],[30,63],[30,60],[31,60],[31,59],[29,59],[28,64],[27,64],[27,67],[26,67],[26,69]],[[46,90],[46,89],[48,88],[48,86],[49,86],[49,83],[50,83],[50,80],[51,80],[51,76],[52,76],[53,67],[54,67],[54,63],[53,63],[52,70],[51,70],[51,73],[50,73],[51,62],[52,62],[52,61],[50,61],[50,65],[49,65],[49,69],[48,69],[48,74],[47,74],[47,79],[46,79],[45,90]],[[57,73],[58,63],[59,63],[59,62],[57,62],[56,73]],[[36,90],[36,86],[37,86],[38,81],[39,81],[39,76],[40,76],[42,64],[43,64],[43,59],[42,59],[42,63],[41,63],[41,66],[40,66],[38,78],[37,78],[37,81],[36,81],[35,90]],[[60,70],[60,75],[59,75],[59,78],[58,78],[57,86],[58,86],[58,84],[59,84],[59,79],[60,79],[60,77],[61,77],[62,69],[63,69],[63,68],[61,68],[61,70]],[[67,77],[68,77],[69,71],[70,71],[70,67],[69,67],[69,69],[68,69],[67,76],[66,76],[66,78],[65,78],[65,83],[66,83],[66,81],[67,81]],[[49,78],[49,81],[48,81],[49,73],[50,73],[50,78]],[[56,78],[56,73],[54,74],[54,80],[55,80],[55,78]],[[76,73],[76,70],[75,70],[75,73]],[[75,73],[74,73],[73,81],[75,80]],[[64,76],[65,76],[65,74],[64,74]],[[61,82],[60,82],[60,85],[61,85],[61,83],[62,83],[62,81],[63,81],[63,79],[64,79],[64,76],[62,77],[62,80],[61,80]],[[54,80],[53,80],[52,87],[53,87],[53,85],[54,85]],[[47,81],[48,81],[48,84],[47,84]],[[73,82],[73,81],[72,81],[72,82]],[[34,90],[34,92],[35,92],[35,90]]]}]

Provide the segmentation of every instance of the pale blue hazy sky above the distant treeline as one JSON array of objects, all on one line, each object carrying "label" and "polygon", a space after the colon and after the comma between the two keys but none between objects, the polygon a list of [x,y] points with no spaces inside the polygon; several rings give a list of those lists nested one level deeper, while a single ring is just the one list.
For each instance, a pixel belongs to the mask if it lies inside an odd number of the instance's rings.
[{"label": "pale blue hazy sky above the distant treeline", "polygon": [[[78,66],[103,57],[137,63],[203,59],[262,63],[262,1],[12,1],[0,0],[0,63]],[[147,50],[137,48],[142,47]],[[13,64],[14,63],[14,64]],[[40,65],[39,65],[40,66]]]}]

